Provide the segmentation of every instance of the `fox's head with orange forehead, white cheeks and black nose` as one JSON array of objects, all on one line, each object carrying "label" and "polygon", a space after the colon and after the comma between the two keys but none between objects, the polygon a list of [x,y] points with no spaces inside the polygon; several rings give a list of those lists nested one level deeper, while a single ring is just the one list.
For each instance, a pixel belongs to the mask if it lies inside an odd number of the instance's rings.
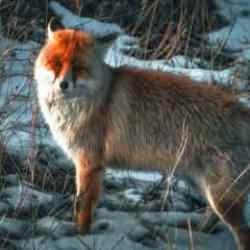
[{"label": "fox's head with orange forehead, white cheeks and black nose", "polygon": [[47,41],[35,62],[39,98],[50,103],[99,94],[110,78],[102,58],[110,41],[102,44],[83,31],[48,28]]}]

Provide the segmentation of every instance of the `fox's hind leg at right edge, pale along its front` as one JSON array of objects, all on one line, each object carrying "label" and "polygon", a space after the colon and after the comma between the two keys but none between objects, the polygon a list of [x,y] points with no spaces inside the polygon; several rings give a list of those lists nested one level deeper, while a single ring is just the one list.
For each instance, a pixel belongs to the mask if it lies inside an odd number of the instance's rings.
[{"label": "fox's hind leg at right edge, pale along its front", "polygon": [[212,161],[214,165],[205,167],[201,188],[214,212],[232,231],[238,249],[249,250],[250,228],[244,216],[250,190],[248,168],[236,174],[237,166],[223,155],[213,155]]}]

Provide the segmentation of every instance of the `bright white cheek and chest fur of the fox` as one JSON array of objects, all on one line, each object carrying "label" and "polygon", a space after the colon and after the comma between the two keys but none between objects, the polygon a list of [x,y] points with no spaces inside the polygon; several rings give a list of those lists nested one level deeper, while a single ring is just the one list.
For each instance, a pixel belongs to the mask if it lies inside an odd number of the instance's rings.
[{"label": "bright white cheek and chest fur of the fox", "polygon": [[72,153],[81,148],[84,127],[93,111],[93,102],[85,93],[91,94],[96,86],[93,81],[78,82],[78,88],[70,89],[65,95],[52,71],[36,62],[35,79],[42,113],[58,145],[72,158]]}]

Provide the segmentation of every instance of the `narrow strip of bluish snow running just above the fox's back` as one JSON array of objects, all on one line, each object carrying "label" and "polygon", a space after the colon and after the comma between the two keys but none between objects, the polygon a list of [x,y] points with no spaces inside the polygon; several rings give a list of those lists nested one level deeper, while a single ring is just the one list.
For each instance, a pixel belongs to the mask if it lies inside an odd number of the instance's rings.
[{"label": "narrow strip of bluish snow running just above the fox's back", "polygon": [[189,59],[184,56],[175,56],[170,60],[142,60],[129,56],[124,53],[124,48],[128,50],[139,49],[137,40],[129,36],[120,36],[113,43],[105,56],[105,62],[113,67],[129,65],[142,69],[154,69],[174,74],[184,74],[195,81],[201,82],[220,82],[223,85],[231,85],[233,81],[233,69],[222,71],[199,69],[195,62],[199,59]]}]

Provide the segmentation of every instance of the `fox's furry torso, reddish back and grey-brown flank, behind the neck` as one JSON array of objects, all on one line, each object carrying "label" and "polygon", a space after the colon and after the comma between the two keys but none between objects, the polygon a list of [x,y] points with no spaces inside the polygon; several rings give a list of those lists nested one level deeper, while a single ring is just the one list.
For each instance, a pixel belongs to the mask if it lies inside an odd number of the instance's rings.
[{"label": "fox's furry torso, reddish back and grey-brown flank, behind the neck", "polygon": [[186,140],[187,165],[212,145],[232,155],[245,152],[235,157],[243,165],[250,160],[250,112],[230,91],[185,76],[121,67],[114,70],[110,96],[110,156],[123,160],[126,152],[138,165],[140,159],[171,165]]}]

